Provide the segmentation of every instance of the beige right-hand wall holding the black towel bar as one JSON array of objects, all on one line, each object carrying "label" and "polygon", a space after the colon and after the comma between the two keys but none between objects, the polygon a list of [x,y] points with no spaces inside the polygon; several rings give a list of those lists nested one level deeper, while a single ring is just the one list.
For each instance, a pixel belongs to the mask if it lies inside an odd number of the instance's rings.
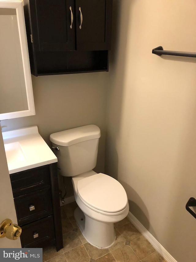
[{"label": "beige right-hand wall holding the black towel bar", "polygon": [[106,172],[130,211],[178,262],[196,257],[196,52],[194,0],[114,0]]}]

